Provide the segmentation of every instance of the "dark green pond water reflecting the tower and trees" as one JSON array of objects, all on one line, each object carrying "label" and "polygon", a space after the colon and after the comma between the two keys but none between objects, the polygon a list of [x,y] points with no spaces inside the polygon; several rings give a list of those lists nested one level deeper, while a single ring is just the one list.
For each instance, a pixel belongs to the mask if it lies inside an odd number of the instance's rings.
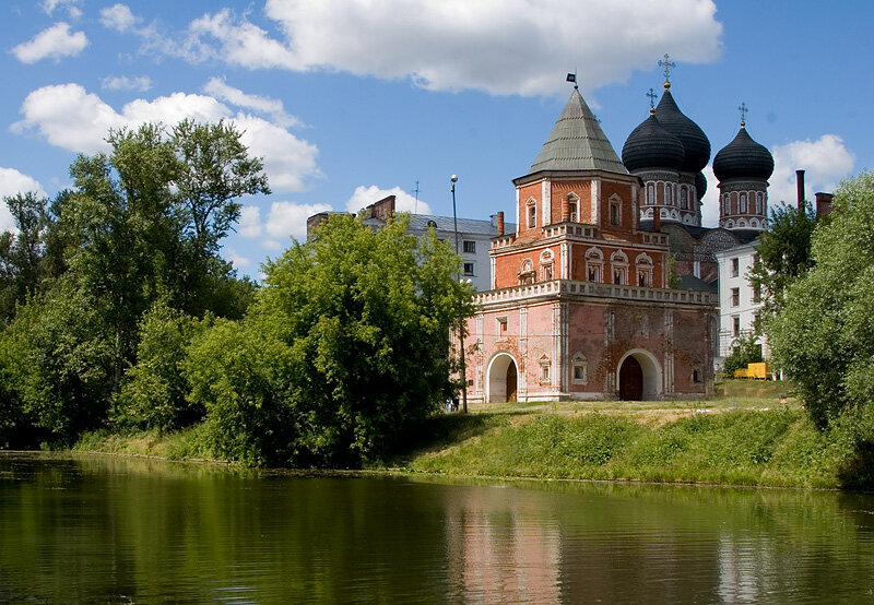
[{"label": "dark green pond water reflecting the tower and trees", "polygon": [[874,497],[0,453],[0,602],[874,601]]}]

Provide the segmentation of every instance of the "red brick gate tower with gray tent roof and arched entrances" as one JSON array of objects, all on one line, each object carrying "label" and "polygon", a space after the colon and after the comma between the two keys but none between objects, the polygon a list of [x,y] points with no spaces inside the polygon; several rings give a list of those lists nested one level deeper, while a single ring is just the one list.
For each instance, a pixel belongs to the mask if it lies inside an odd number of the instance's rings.
[{"label": "red brick gate tower with gray tent roof and arched entrances", "polygon": [[492,289],[468,322],[469,398],[711,394],[716,301],[669,287],[668,235],[640,229],[643,181],[576,87],[513,183],[517,230],[493,239]]}]

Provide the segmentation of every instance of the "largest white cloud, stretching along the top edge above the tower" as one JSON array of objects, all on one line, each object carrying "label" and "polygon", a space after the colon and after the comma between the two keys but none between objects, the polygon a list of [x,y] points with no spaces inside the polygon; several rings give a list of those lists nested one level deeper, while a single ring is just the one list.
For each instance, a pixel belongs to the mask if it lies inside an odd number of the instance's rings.
[{"label": "largest white cloud, stretching along the top edge above the tower", "polygon": [[665,50],[693,63],[721,52],[712,0],[268,0],[264,12],[282,39],[223,9],[191,22],[187,57],[535,96],[563,93],[575,66],[582,86],[597,88],[651,70]]}]

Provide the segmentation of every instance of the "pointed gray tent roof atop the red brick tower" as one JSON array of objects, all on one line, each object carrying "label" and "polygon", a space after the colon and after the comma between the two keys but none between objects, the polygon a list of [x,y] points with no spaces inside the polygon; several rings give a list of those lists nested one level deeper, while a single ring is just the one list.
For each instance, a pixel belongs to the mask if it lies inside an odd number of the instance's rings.
[{"label": "pointed gray tent roof atop the red brick tower", "polygon": [[606,170],[628,174],[594,114],[576,88],[529,174],[540,170]]}]

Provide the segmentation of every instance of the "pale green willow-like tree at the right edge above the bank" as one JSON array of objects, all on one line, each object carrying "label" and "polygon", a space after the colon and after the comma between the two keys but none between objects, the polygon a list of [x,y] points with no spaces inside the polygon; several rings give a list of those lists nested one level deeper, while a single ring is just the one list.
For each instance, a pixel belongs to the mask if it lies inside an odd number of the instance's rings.
[{"label": "pale green willow-like tree at the right edge above the bank", "polygon": [[820,427],[874,402],[874,173],[843,182],[813,235],[813,268],[769,323],[773,356]]}]

